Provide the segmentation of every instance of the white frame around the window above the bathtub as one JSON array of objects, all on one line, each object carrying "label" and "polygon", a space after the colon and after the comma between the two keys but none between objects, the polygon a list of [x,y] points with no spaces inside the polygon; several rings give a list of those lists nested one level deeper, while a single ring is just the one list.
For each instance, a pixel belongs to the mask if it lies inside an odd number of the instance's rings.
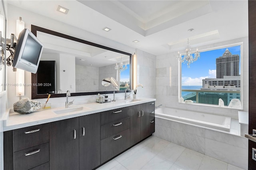
[{"label": "white frame around the window above the bathtub", "polygon": [[[218,45],[215,47],[210,47],[210,48],[204,48],[200,49],[199,52],[204,52],[204,51],[211,51],[214,49],[220,49],[220,48],[228,48],[228,47],[233,47],[240,45],[240,102],[241,102],[241,108],[232,108],[228,106],[224,106],[222,108],[228,108],[228,109],[236,109],[236,110],[243,110],[243,54],[244,54],[244,43],[243,42],[237,42],[237,43],[229,43],[226,45]],[[198,47],[199,48],[199,47]],[[192,51],[192,53],[195,53],[196,51]],[[199,58],[200,59],[200,58]],[[196,62],[196,61],[195,61]],[[208,106],[208,107],[219,107],[218,105],[212,105],[212,104],[204,104],[204,103],[182,103],[180,101],[180,97],[182,97],[181,92],[182,92],[182,63],[178,61],[178,103],[179,104],[184,104],[184,105],[198,105],[198,106]]]}]

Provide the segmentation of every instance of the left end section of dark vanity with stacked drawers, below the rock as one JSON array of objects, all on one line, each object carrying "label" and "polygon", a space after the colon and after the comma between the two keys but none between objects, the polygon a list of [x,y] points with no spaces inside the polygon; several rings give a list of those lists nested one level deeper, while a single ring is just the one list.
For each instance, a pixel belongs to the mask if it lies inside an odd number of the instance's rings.
[{"label": "left end section of dark vanity with stacked drawers, below the rock", "polygon": [[4,170],[28,170],[47,163],[48,123],[4,132]]}]

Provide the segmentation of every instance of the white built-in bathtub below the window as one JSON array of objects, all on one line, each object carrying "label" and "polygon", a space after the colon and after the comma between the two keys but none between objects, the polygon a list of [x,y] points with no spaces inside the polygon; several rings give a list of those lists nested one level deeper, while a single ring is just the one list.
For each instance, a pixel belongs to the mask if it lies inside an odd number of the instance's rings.
[{"label": "white built-in bathtub below the window", "polygon": [[202,127],[230,131],[231,117],[212,115],[194,111],[160,107],[155,110],[155,116],[181,123],[189,123]]}]

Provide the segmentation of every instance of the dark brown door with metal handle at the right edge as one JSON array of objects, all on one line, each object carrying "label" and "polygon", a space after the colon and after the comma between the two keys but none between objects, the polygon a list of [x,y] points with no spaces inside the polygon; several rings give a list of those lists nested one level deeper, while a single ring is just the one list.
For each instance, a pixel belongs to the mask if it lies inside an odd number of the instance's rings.
[{"label": "dark brown door with metal handle at the right edge", "polygon": [[[248,1],[249,14],[249,134],[256,128],[256,1]],[[249,141],[248,146],[248,170],[255,170],[256,161],[252,159],[252,148],[256,148],[256,142]]]}]

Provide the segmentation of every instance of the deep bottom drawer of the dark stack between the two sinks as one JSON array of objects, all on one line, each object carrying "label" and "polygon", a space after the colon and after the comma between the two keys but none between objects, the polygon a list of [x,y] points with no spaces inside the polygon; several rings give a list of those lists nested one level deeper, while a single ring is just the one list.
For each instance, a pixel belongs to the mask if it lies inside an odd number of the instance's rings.
[{"label": "deep bottom drawer of the dark stack between the two sinks", "polygon": [[104,163],[130,147],[130,129],[114,134],[100,141],[100,163]]}]

